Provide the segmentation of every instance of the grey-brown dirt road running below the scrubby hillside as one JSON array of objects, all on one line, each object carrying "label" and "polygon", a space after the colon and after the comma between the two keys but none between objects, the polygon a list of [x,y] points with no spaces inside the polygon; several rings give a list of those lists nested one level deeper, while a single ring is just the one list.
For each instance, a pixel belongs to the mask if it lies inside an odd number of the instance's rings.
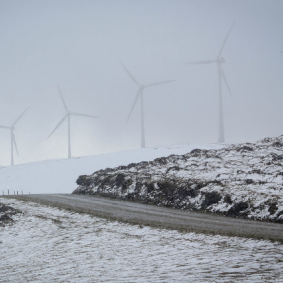
[{"label": "grey-brown dirt road running below the scrubby hillside", "polygon": [[9,197],[54,205],[131,224],[283,242],[283,224],[277,223],[245,220],[83,195],[31,194]]}]

